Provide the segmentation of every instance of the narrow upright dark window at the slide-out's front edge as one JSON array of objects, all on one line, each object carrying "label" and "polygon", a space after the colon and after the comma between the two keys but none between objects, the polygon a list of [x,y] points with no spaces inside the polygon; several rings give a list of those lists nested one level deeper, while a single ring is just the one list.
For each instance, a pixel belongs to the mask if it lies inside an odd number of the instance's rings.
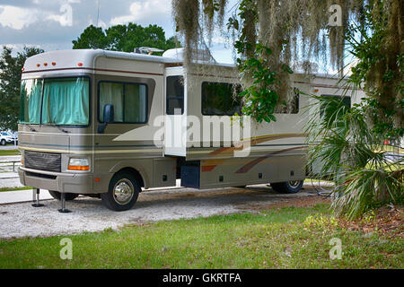
[{"label": "narrow upright dark window at the slide-out's front edge", "polygon": [[184,78],[182,76],[167,77],[166,97],[167,115],[174,115],[175,109],[180,109],[182,115],[184,113]]}]

